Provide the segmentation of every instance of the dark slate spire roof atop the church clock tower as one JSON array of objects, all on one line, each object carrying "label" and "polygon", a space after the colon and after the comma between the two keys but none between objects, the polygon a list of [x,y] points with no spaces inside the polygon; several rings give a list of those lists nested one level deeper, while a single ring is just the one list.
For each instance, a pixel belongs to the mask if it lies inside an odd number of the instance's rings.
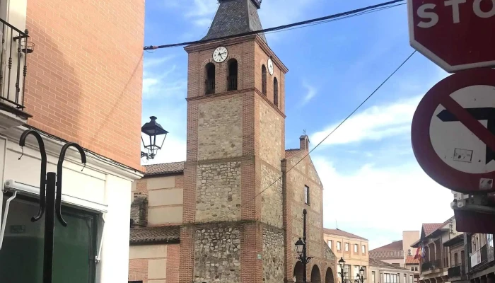
[{"label": "dark slate spire roof atop the church clock tower", "polygon": [[[204,40],[263,29],[257,11],[262,0],[219,0],[219,2],[219,10]],[[259,35],[264,42],[267,42],[263,33]]]}]

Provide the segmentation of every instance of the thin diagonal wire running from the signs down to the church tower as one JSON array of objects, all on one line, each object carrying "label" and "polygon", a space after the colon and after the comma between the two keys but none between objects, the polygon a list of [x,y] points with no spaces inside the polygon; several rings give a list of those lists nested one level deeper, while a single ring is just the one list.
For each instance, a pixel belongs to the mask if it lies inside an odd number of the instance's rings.
[{"label": "thin diagonal wire running from the signs down to the church tower", "polygon": [[[327,134],[327,136],[322,139],[322,141],[320,141],[313,149],[311,149],[308,154],[305,154],[305,156],[303,156],[303,158],[301,158],[301,160],[299,160],[296,164],[294,164],[294,166],[292,166],[291,168],[289,168],[289,170],[287,170],[287,173],[289,173],[293,168],[296,168],[296,166],[298,166],[299,163],[301,163],[306,157],[308,157],[315,149],[318,148],[318,146],[320,146],[321,144],[323,144],[327,139],[328,137],[330,137],[335,131],[337,131],[337,129],[339,129],[339,127],[341,127],[342,125],[344,125],[344,123],[349,120],[349,118],[354,115],[360,108],[361,106],[364,105],[364,103],[366,103],[366,101],[368,101],[371,96],[373,96],[395,73],[397,73],[397,71],[399,71],[400,68],[402,68],[402,66],[404,66],[404,64],[406,64],[407,61],[409,61],[409,59],[411,59],[412,55],[414,55],[414,53],[416,53],[416,50],[414,50],[410,55],[409,57],[407,57],[404,62],[402,62],[402,64],[399,65],[399,67],[397,67],[397,69],[395,69],[395,71],[392,72],[392,74],[390,74],[390,76],[387,77],[387,79],[385,79],[385,81],[383,81],[382,83],[380,83],[380,85],[378,86],[378,88],[375,88],[375,90],[365,99],[363,100],[363,102],[361,102],[349,115],[347,115],[347,117],[342,120],[342,122],[339,123],[339,125],[337,125],[337,127],[335,127],[332,132],[330,132],[329,134]],[[279,177],[277,178],[273,183],[271,183],[268,187],[265,187],[262,191],[258,192],[257,195],[255,195],[255,197],[253,197],[251,200],[248,200],[248,203],[256,200],[257,197],[259,197],[263,192],[265,192],[266,190],[268,190],[270,187],[272,187],[272,185],[275,185],[277,182],[279,182],[279,180],[281,180],[282,177]],[[223,216],[227,216],[228,214],[231,214],[231,212],[235,212],[239,209],[241,209],[242,207],[235,207],[234,209],[229,209],[228,212],[224,213],[224,214],[221,214],[220,216],[217,216],[215,217],[216,219],[221,219]],[[211,220],[209,220],[211,221]],[[208,222],[208,221],[206,221]]]}]

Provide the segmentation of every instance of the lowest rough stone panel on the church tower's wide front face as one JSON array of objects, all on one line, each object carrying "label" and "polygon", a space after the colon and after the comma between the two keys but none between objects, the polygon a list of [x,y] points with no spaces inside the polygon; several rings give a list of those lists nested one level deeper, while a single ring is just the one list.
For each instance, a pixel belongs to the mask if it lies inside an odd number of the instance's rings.
[{"label": "lowest rough stone panel on the church tower's wide front face", "polygon": [[240,282],[240,231],[233,227],[194,233],[194,282]]}]

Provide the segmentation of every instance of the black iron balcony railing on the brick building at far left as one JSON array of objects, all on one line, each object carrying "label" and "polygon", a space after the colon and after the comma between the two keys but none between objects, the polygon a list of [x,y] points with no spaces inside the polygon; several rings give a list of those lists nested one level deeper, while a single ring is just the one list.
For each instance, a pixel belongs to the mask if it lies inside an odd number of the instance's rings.
[{"label": "black iron balcony railing on the brick building at far left", "polygon": [[[28,54],[34,44],[25,32],[0,18],[0,109],[11,111],[24,109],[25,77],[28,73]],[[27,114],[27,113],[26,113]]]}]

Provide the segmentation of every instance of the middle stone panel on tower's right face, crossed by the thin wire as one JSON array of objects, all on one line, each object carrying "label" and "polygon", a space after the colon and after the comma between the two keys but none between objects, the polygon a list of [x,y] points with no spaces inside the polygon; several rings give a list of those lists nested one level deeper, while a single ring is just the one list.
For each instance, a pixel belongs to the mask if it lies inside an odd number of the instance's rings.
[{"label": "middle stone panel on tower's right face, crossed by the thin wire", "polygon": [[[278,228],[281,228],[284,224],[282,219],[282,182],[281,179],[278,180],[280,176],[281,173],[264,164],[261,165],[261,190],[267,188],[261,195],[261,221]],[[274,183],[275,180],[277,180],[276,183]]]}]

